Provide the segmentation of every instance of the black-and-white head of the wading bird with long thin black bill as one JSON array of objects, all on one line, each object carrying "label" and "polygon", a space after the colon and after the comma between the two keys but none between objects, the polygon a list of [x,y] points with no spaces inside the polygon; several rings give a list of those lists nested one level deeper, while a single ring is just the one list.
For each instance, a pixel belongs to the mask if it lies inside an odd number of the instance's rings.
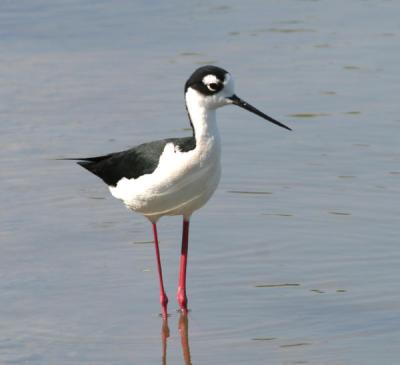
[{"label": "black-and-white head of the wading bird with long thin black bill", "polygon": [[186,103],[190,108],[196,104],[202,108],[213,110],[224,105],[237,105],[271,123],[291,130],[286,125],[269,117],[235,94],[234,81],[231,74],[216,66],[202,66],[192,73],[185,84]]}]

